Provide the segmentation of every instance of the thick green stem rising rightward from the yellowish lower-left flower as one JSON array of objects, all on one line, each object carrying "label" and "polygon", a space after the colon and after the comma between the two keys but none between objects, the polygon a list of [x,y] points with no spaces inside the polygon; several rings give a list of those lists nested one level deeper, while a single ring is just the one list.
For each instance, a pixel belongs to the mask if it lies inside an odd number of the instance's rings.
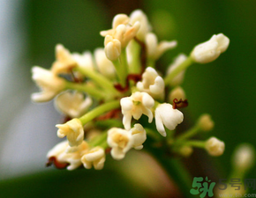
[{"label": "thick green stem rising rightward from the yellowish lower-left flower", "polygon": [[103,104],[102,106],[98,106],[94,108],[92,111],[83,115],[79,118],[83,125],[85,125],[88,121],[94,120],[94,118],[98,117],[101,114],[107,113],[113,109],[116,109],[120,106],[120,101],[115,100],[108,103]]}]

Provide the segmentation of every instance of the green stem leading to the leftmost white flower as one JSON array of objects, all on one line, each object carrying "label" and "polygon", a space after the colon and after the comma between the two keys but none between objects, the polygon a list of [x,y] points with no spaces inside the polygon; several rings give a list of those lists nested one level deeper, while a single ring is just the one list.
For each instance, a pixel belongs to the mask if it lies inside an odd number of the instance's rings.
[{"label": "green stem leading to the leftmost white flower", "polygon": [[86,92],[88,95],[96,99],[106,98],[106,93],[101,90],[95,89],[95,87],[87,84],[76,84],[72,82],[66,82],[65,89],[77,90],[79,92]]}]

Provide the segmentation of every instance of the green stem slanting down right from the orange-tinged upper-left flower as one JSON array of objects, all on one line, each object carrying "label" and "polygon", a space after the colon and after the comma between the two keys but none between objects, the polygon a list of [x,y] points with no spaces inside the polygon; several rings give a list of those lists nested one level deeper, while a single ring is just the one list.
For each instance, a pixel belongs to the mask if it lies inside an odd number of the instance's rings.
[{"label": "green stem slanting down right from the orange-tinged upper-left flower", "polygon": [[94,70],[87,70],[82,67],[78,67],[75,70],[79,71],[86,77],[89,77],[92,80],[94,80],[94,82],[96,84],[100,85],[103,89],[105,89],[109,92],[113,92],[114,94],[118,94],[117,90],[113,86],[113,83],[111,81],[109,81],[109,79],[107,77],[104,77],[102,74],[97,73]]}]

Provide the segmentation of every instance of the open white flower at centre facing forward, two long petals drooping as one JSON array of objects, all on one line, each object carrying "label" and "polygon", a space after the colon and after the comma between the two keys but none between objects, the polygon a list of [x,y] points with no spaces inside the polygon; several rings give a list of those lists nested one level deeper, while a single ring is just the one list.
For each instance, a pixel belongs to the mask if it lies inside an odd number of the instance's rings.
[{"label": "open white flower at centre facing forward, two long petals drooping", "polygon": [[126,130],[131,129],[132,116],[139,120],[142,114],[147,115],[148,122],[152,122],[153,113],[151,108],[154,106],[154,99],[147,92],[134,92],[130,97],[124,97],[120,100],[123,124]]}]

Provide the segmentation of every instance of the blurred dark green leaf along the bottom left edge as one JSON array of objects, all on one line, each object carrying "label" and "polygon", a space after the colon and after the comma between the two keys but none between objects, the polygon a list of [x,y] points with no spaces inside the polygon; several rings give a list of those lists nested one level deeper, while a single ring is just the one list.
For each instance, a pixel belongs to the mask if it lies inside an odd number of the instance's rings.
[{"label": "blurred dark green leaf along the bottom left edge", "polygon": [[141,197],[117,172],[54,170],[0,181],[1,198]]}]

